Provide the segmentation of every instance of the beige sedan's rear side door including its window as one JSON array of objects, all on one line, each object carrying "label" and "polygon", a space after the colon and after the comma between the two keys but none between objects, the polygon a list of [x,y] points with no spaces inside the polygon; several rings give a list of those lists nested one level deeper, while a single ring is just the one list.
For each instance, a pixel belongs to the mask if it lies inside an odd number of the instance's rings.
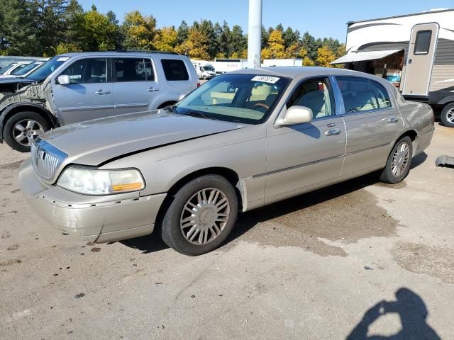
[{"label": "beige sedan's rear side door including its window", "polygon": [[347,130],[342,175],[384,166],[392,142],[403,129],[401,115],[387,89],[360,77],[336,77]]}]

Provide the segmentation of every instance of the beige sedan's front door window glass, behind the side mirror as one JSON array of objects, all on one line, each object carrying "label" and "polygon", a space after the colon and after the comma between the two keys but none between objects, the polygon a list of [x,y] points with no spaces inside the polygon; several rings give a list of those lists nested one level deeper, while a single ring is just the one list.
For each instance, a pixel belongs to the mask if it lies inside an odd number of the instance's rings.
[{"label": "beige sedan's front door window glass, behind the side mirror", "polygon": [[292,94],[287,108],[294,105],[310,108],[314,119],[334,115],[333,99],[327,80],[309,80],[301,84]]}]

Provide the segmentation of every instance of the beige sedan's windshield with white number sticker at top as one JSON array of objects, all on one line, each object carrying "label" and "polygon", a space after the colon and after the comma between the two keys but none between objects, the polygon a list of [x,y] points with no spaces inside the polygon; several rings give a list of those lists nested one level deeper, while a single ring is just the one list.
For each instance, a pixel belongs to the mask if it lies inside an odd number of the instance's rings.
[{"label": "beige sedan's windshield with white number sticker at top", "polygon": [[223,74],[172,107],[172,111],[237,123],[262,123],[284,93],[289,79],[260,74]]}]

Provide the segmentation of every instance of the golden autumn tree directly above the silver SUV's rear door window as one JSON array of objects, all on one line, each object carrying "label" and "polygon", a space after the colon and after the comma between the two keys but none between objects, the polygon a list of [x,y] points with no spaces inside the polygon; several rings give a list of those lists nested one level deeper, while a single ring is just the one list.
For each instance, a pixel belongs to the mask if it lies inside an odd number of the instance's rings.
[{"label": "golden autumn tree directly above the silver SUV's rear door window", "polygon": [[139,11],[128,12],[123,22],[123,33],[126,48],[153,50],[156,19],[153,16],[143,16]]}]

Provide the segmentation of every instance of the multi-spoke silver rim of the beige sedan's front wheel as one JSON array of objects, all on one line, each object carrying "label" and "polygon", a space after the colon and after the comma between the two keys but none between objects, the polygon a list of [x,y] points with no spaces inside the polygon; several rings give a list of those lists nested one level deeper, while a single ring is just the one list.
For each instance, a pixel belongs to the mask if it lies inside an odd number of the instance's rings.
[{"label": "multi-spoke silver rim of the beige sedan's front wheel", "polygon": [[230,215],[227,196],[216,188],[196,192],[184,205],[179,227],[187,241],[207,244],[226,227]]}]

